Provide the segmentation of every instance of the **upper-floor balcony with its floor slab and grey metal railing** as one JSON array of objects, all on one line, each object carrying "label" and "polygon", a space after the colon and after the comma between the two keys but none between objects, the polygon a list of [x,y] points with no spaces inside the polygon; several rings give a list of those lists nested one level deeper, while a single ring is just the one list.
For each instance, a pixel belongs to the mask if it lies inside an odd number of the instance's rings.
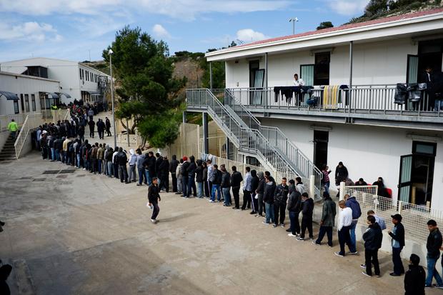
[{"label": "upper-floor balcony with its floor slab and grey metal railing", "polygon": [[407,99],[405,104],[396,104],[396,85],[352,86],[352,89],[339,89],[334,99],[327,100],[324,89],[315,87],[312,97],[317,103],[314,106],[307,104],[308,94],[291,92],[285,95],[282,91],[274,91],[273,87],[227,90],[257,117],[411,129],[443,128],[443,101],[440,108],[432,109],[424,93],[419,102]]}]

